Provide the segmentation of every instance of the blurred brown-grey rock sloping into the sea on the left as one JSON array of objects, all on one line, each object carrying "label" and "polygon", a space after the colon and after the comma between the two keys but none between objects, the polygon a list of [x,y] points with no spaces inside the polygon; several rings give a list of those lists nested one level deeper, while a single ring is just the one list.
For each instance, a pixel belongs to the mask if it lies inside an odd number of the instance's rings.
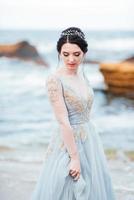
[{"label": "blurred brown-grey rock sloping into the sea on the left", "polygon": [[36,48],[27,41],[21,41],[11,45],[0,45],[0,57],[19,58],[25,61],[34,61],[39,65],[48,66],[48,64],[39,55]]}]

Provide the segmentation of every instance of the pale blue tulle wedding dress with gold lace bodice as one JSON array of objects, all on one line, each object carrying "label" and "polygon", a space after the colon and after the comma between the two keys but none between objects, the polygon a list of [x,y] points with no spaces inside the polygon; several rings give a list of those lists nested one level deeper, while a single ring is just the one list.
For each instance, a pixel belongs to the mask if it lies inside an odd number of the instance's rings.
[{"label": "pale blue tulle wedding dress with gold lace bodice", "polygon": [[58,78],[74,138],[78,147],[81,174],[69,175],[70,157],[57,128],[52,135],[32,200],[115,200],[113,184],[96,126],[90,118],[94,93],[87,82],[88,99],[76,94],[67,80]]}]

